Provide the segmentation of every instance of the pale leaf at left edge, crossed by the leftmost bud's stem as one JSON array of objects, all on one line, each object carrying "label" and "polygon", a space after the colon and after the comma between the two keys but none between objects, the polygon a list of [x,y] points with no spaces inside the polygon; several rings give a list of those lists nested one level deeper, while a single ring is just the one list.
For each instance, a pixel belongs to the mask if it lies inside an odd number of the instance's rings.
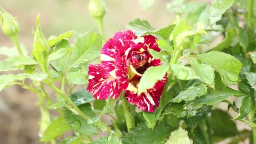
[{"label": "pale leaf at left edge, crossed by the leftmost bud's stem", "polygon": [[[21,51],[24,54],[24,56],[27,56],[27,48],[25,48],[25,46],[23,44],[21,44],[20,46],[21,46]],[[16,47],[12,47],[12,48],[2,47],[2,48],[0,48],[0,55],[12,57],[12,56],[18,56],[19,53],[18,53]]]}]

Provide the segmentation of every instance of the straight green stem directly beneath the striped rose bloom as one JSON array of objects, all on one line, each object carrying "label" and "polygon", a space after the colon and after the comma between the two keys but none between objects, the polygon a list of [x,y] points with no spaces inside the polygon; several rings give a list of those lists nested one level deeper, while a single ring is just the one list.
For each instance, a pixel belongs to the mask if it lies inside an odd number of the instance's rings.
[{"label": "straight green stem directly beneath the striped rose bloom", "polygon": [[128,101],[125,99],[124,96],[122,96],[122,100],[123,100],[123,107],[125,110],[125,120],[126,120],[127,130],[130,131],[130,129],[133,128],[133,120],[131,119],[130,107],[128,105]]}]

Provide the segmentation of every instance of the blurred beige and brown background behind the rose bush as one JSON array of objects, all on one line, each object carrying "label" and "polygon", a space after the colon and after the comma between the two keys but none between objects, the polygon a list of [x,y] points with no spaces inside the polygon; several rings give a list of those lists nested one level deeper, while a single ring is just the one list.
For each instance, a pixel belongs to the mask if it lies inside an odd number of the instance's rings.
[{"label": "blurred beige and brown background behind the rose bush", "polygon": [[[152,27],[169,24],[175,15],[168,13],[166,4],[171,0],[156,0],[156,4],[143,12],[138,0],[104,0],[107,14],[104,17],[105,37],[112,37],[118,30],[125,30],[128,21],[140,18],[148,20]],[[192,1],[192,0],[190,0]],[[194,0],[211,3],[211,0]],[[84,33],[98,31],[96,21],[88,11],[89,0],[0,0],[0,6],[17,16],[21,30],[19,41],[31,54],[35,19],[40,14],[45,37],[59,35],[69,30]],[[220,38],[221,40],[221,38]],[[0,32],[0,47],[13,47],[8,37]],[[0,60],[6,57],[0,55]],[[10,72],[0,72],[0,75]],[[52,91],[48,91],[54,96]],[[13,86],[0,92],[0,144],[39,144],[40,111],[37,95]],[[226,106],[225,106],[226,108]],[[243,127],[243,126],[242,126]]]}]

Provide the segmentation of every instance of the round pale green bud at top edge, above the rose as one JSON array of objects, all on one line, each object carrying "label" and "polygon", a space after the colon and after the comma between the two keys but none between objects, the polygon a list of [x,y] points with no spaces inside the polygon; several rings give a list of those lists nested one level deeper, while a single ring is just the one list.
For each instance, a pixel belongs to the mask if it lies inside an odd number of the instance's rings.
[{"label": "round pale green bud at top edge, above the rose", "polygon": [[102,0],[90,0],[89,11],[95,18],[101,18],[106,13],[106,6]]}]

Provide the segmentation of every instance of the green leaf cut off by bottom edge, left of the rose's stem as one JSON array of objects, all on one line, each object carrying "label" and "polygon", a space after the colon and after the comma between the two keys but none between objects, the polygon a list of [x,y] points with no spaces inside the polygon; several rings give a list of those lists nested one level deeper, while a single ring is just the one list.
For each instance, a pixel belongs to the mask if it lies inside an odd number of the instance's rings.
[{"label": "green leaf cut off by bottom edge, left of the rose's stem", "polygon": [[98,139],[90,144],[123,144],[118,136],[108,135],[103,138]]}]

